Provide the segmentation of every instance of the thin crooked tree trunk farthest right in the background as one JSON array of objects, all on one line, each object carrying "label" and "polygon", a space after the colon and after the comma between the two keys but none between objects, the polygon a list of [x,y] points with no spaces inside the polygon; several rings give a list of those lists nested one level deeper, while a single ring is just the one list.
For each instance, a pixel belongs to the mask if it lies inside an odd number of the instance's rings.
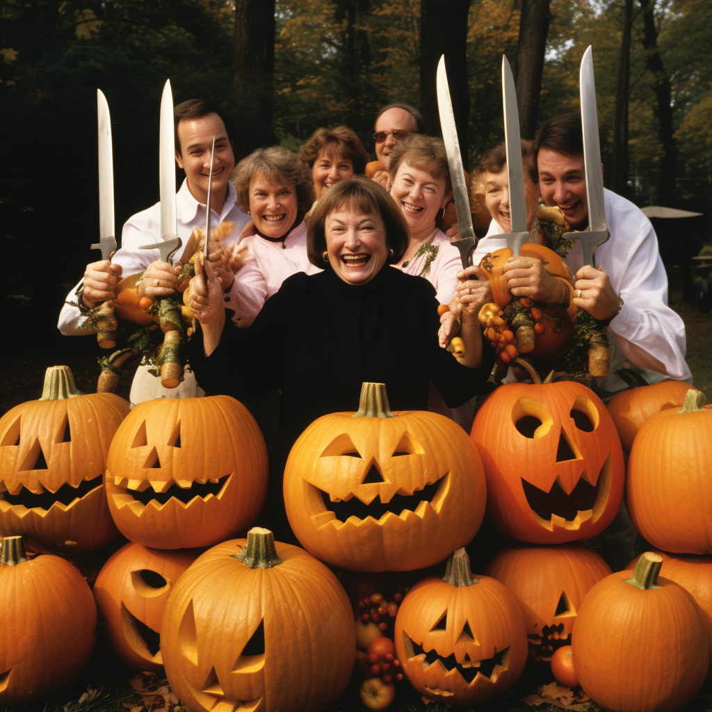
[{"label": "thin crooked tree trunk farthest right in the background", "polygon": [[660,159],[660,194],[659,199],[666,205],[675,204],[675,176],[677,169],[677,145],[673,125],[672,91],[670,78],[663,65],[663,60],[658,50],[658,30],[655,26],[654,2],[640,0],[643,10],[643,47],[645,48],[645,61],[653,75],[658,117],[658,135],[663,147]]}]

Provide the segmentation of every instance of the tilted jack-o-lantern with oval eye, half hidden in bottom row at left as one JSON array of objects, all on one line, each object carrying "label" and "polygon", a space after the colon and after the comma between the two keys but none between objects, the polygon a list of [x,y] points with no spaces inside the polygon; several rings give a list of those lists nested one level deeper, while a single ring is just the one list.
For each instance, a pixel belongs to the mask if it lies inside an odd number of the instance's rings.
[{"label": "tilted jack-o-lantern with oval eye, half hidden in bottom row at left", "polygon": [[94,598],[112,649],[128,667],[162,669],[159,634],[166,603],[174,583],[199,553],[127,544],[102,567]]}]

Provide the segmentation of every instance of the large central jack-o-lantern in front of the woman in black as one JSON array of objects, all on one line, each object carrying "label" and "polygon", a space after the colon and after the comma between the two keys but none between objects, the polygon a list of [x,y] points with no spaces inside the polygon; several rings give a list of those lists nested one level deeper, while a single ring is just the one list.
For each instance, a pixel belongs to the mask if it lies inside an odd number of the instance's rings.
[{"label": "large central jack-o-lantern in front of the woman in black", "polygon": [[325,415],[295,442],[284,474],[300,543],[335,566],[408,571],[468,543],[482,522],[480,459],[461,427],[436,413],[392,413],[365,383],[359,412]]}]

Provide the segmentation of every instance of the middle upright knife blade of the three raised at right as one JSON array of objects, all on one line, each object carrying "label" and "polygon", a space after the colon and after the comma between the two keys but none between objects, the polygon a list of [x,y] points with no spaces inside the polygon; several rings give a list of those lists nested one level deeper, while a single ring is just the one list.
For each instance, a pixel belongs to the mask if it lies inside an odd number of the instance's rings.
[{"label": "middle upright knife blade of the three raised at right", "polygon": [[527,211],[524,201],[524,170],[517,91],[514,86],[512,68],[505,55],[502,55],[502,104],[504,107],[504,140],[507,147],[511,232],[499,237],[506,239],[507,246],[511,248],[513,256],[518,257],[522,245],[529,241],[529,231],[527,230]]}]

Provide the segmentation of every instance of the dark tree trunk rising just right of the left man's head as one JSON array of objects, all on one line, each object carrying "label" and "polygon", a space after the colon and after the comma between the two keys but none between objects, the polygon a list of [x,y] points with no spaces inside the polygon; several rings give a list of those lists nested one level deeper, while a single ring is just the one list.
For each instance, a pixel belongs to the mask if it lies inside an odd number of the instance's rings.
[{"label": "dark tree trunk rising just right of the left man's head", "polygon": [[274,13],[275,0],[235,2],[234,85],[250,106],[255,147],[273,142]]}]

